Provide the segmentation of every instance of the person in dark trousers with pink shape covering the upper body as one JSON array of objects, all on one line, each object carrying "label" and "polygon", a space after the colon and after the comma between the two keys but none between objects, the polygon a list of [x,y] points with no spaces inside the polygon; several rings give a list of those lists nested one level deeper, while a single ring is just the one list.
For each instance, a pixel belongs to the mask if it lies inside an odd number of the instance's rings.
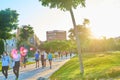
[{"label": "person in dark trousers with pink shape covering the upper body", "polygon": [[16,76],[16,80],[18,80],[19,67],[20,67],[20,58],[21,58],[20,52],[16,50],[15,53],[11,55],[11,57],[12,57],[14,63],[15,63],[14,66],[13,66],[13,72],[14,72],[14,74]]}]

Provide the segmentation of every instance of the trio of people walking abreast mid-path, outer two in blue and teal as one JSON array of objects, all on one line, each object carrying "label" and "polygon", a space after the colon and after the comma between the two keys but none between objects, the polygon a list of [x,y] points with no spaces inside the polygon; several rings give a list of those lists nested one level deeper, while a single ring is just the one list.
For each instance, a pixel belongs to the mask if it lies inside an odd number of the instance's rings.
[{"label": "trio of people walking abreast mid-path, outer two in blue and teal", "polygon": [[50,69],[52,68],[52,54],[50,52],[39,51],[37,50],[35,53],[35,61],[36,61],[36,68],[39,67],[39,63],[41,60],[42,68],[46,67],[46,60],[48,59],[50,64]]}]

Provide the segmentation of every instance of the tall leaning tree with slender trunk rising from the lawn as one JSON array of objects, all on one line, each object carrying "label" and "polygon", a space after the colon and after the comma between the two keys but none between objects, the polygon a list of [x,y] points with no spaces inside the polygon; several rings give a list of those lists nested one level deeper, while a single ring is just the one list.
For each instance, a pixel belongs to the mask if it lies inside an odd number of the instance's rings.
[{"label": "tall leaning tree with slender trunk rising from the lawn", "polygon": [[74,30],[75,30],[77,50],[78,50],[79,62],[80,62],[80,70],[81,70],[81,74],[83,75],[84,67],[83,67],[83,61],[82,61],[82,56],[81,56],[80,40],[77,34],[78,31],[76,28],[76,21],[74,18],[72,8],[76,9],[78,5],[85,7],[85,0],[39,0],[39,1],[42,2],[43,6],[49,6],[50,8],[58,8],[63,11],[70,11]]}]

